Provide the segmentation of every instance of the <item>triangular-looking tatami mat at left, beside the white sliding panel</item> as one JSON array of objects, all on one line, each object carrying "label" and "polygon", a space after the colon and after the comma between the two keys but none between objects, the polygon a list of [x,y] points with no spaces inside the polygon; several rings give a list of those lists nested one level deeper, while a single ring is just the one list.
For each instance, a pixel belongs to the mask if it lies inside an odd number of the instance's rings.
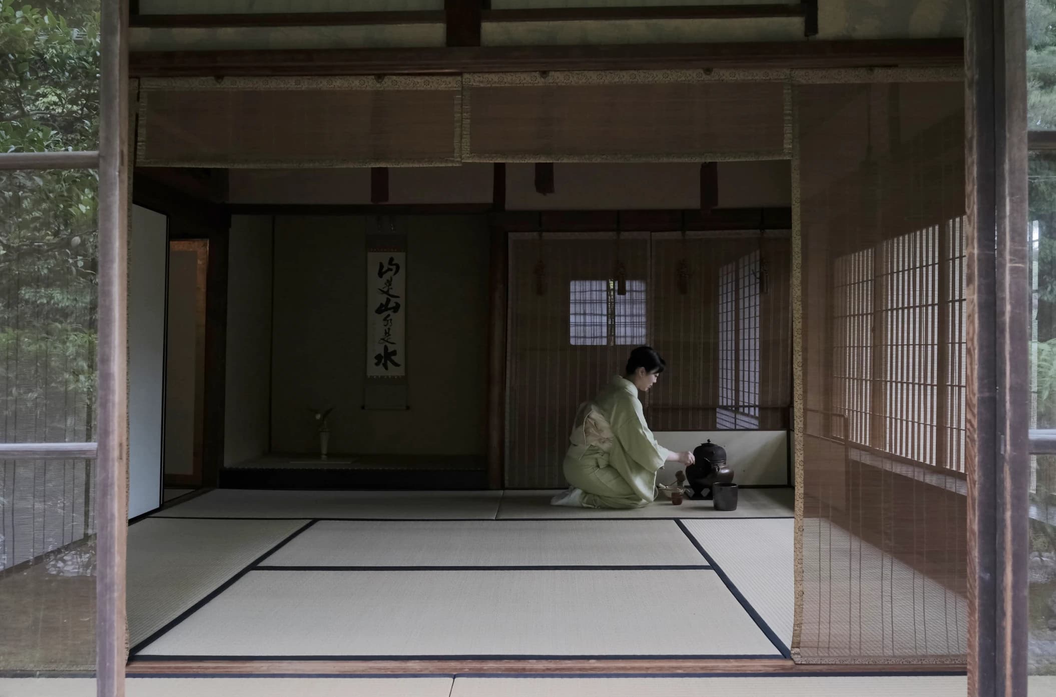
[{"label": "triangular-looking tatami mat at left, beside the white sliding panel", "polygon": [[131,645],[175,619],[305,520],[168,520],[129,527]]}]

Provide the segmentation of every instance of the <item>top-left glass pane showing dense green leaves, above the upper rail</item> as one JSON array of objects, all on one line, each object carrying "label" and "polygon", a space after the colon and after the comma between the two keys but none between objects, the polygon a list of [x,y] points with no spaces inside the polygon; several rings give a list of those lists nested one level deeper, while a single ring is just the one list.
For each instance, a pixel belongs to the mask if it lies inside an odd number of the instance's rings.
[{"label": "top-left glass pane showing dense green leaves, above the upper rail", "polygon": [[99,0],[0,0],[0,152],[96,150]]}]

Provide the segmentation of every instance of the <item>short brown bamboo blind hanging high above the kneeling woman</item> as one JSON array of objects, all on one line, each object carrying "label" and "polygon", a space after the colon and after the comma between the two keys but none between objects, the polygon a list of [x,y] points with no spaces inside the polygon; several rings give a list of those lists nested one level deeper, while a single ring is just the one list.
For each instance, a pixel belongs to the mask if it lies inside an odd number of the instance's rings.
[{"label": "short brown bamboo blind hanging high above the kneeling woman", "polygon": [[681,73],[470,75],[465,161],[709,161],[789,156],[782,82]]}]

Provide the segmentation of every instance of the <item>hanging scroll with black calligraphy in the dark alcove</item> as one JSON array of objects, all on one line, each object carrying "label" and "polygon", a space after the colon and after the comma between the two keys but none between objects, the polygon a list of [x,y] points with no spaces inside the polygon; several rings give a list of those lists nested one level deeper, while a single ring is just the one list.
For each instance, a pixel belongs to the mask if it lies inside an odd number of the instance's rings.
[{"label": "hanging scroll with black calligraphy in the dark alcove", "polygon": [[366,238],[367,409],[407,408],[407,236],[391,232]]}]

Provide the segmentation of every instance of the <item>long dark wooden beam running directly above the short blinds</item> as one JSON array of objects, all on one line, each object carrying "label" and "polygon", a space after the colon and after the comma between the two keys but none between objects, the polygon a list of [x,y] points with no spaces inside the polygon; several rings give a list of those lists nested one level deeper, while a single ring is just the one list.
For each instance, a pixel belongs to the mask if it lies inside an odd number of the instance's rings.
[{"label": "long dark wooden beam running directly above the short blinds", "polygon": [[961,39],[593,46],[136,52],[132,74],[397,75],[561,70],[963,66]]}]

